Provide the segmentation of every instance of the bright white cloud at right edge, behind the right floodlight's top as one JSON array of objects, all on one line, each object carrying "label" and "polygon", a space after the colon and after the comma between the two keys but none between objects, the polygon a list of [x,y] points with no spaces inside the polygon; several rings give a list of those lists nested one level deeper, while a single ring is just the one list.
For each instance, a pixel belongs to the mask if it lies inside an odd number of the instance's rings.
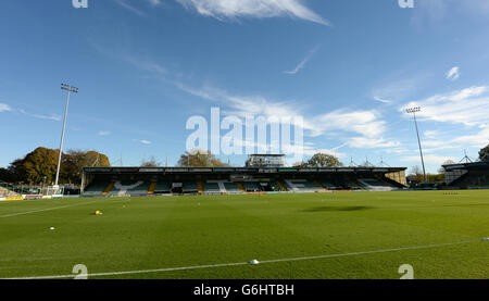
[{"label": "bright white cloud at right edge, behind the right floodlight's top", "polygon": [[474,86],[443,95],[435,95],[421,101],[413,101],[402,106],[421,106],[417,116],[424,120],[480,126],[489,123],[489,87]]}]

